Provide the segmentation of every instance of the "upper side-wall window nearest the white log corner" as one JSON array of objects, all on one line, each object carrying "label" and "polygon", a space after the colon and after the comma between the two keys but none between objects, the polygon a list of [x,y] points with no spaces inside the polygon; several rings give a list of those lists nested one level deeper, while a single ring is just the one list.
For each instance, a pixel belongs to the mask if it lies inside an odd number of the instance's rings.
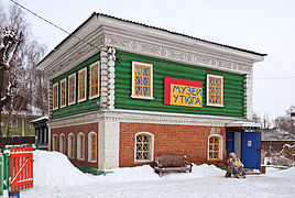
[{"label": "upper side-wall window nearest the white log corner", "polygon": [[99,62],[90,65],[90,96],[96,98],[99,96]]}]

